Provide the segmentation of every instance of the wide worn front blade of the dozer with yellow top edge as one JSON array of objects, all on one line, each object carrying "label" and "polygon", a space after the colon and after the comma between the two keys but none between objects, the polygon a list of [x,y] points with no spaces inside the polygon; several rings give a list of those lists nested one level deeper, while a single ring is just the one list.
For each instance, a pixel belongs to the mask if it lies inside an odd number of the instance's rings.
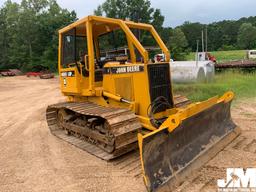
[{"label": "wide worn front blade of the dozer with yellow top edge", "polygon": [[233,96],[191,104],[158,130],[138,135],[149,191],[173,190],[240,134],[230,115]]}]

